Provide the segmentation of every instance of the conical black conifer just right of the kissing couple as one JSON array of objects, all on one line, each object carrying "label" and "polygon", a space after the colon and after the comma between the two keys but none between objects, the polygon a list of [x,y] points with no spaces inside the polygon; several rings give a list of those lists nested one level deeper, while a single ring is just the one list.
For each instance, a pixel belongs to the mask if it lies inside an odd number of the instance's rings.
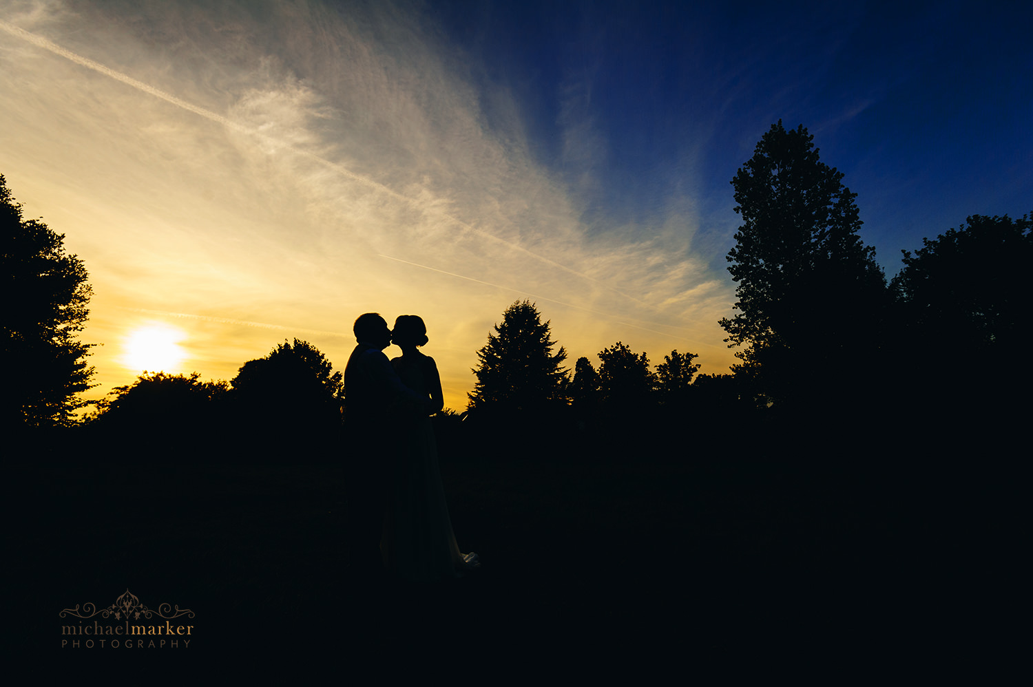
[{"label": "conical black conifer just right of the kissing couple", "polygon": [[549,321],[528,301],[516,301],[502,313],[496,334],[477,351],[477,381],[467,394],[471,409],[494,406],[499,410],[536,410],[567,400],[568,377],[560,365],[567,357],[556,342]]}]

